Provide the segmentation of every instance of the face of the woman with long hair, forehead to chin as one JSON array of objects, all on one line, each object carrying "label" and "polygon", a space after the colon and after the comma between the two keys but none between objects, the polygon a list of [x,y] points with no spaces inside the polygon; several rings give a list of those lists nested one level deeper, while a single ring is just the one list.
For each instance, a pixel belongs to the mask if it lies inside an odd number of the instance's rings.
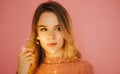
[{"label": "face of the woman with long hair, forehead to chin", "polygon": [[38,21],[38,38],[46,53],[57,53],[62,50],[64,39],[61,35],[57,16],[44,12]]}]

